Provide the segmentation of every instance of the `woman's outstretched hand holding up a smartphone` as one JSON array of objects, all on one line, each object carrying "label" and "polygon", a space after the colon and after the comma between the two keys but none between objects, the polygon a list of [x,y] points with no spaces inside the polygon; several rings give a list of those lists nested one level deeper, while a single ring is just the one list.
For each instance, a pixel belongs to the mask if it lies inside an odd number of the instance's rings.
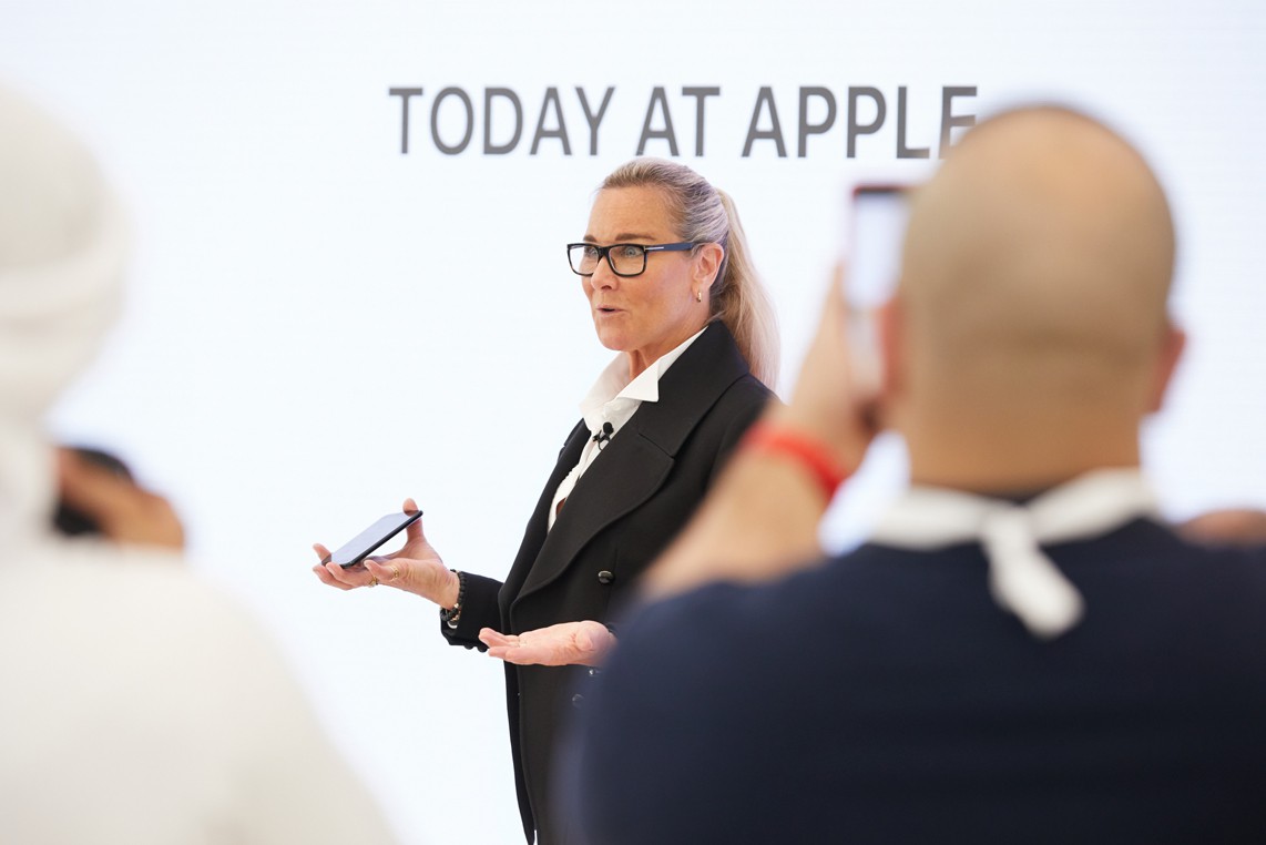
[{"label": "woman's outstretched hand holding up a smartphone", "polygon": [[[417,509],[418,504],[413,499],[404,500],[404,511]],[[313,545],[313,549],[320,560],[329,556],[329,550],[320,543]],[[457,574],[444,566],[439,552],[427,542],[420,518],[405,528],[404,547],[395,554],[366,557],[363,566],[349,569],[329,561],[313,566],[313,571],[323,583],[341,590],[386,584],[444,608],[451,608],[457,602],[460,587]]]}]

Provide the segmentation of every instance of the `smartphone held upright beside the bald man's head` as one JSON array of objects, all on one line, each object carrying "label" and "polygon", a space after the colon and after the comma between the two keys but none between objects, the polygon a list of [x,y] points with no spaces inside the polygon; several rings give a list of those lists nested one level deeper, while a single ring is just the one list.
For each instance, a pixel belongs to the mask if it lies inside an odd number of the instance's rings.
[{"label": "smartphone held upright beside the bald man's head", "polygon": [[848,336],[862,385],[879,389],[880,355],[875,312],[891,299],[901,275],[901,243],[910,215],[909,187],[863,184],[853,187],[848,251]]}]

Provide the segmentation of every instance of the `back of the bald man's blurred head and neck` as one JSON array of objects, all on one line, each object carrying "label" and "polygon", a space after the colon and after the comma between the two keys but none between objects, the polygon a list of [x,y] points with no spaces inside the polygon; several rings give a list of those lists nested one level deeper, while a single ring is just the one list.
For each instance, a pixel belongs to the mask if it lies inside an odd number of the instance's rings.
[{"label": "back of the bald man's blurred head and neck", "polygon": [[1142,157],[1060,108],[981,123],[912,210],[889,402],[917,481],[1037,489],[1138,460],[1181,348]]}]

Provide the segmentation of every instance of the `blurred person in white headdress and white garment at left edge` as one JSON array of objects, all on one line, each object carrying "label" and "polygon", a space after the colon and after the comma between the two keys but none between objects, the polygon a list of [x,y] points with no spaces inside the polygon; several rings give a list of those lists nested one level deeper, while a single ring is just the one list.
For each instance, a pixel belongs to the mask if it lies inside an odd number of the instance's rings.
[{"label": "blurred person in white headdress and white garment at left edge", "polygon": [[[167,503],[48,441],[127,247],[91,155],[0,86],[0,841],[392,841],[262,628],[173,565]],[[103,538],[53,533],[58,480]]]}]

